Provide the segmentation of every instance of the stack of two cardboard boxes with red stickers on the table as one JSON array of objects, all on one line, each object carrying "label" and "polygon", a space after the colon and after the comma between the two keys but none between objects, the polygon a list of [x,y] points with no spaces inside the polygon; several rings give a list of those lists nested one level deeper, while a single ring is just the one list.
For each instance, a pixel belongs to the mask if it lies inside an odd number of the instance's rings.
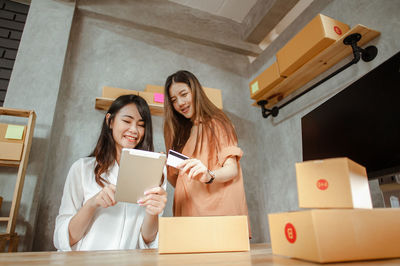
[{"label": "stack of two cardboard boxes with red stickers on the table", "polygon": [[366,170],[348,158],[296,164],[298,212],[269,214],[272,252],[315,262],[400,257],[400,209],[372,209]]}]

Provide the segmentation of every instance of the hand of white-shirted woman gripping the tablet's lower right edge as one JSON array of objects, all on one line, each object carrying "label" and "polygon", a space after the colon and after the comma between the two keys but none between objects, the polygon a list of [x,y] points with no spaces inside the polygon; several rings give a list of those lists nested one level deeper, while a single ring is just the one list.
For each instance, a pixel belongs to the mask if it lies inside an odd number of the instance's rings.
[{"label": "hand of white-shirted woman gripping the tablet's lower right edge", "polygon": [[140,206],[146,207],[150,215],[159,215],[167,203],[167,192],[161,187],[155,187],[144,192],[144,197],[138,200]]}]

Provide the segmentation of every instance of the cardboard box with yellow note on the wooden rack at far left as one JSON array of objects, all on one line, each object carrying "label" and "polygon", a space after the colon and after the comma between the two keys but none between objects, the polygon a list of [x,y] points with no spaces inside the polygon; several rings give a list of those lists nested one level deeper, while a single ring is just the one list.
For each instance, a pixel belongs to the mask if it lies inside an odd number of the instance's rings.
[{"label": "cardboard box with yellow note on the wooden rack at far left", "polygon": [[0,160],[21,160],[26,126],[0,124]]}]

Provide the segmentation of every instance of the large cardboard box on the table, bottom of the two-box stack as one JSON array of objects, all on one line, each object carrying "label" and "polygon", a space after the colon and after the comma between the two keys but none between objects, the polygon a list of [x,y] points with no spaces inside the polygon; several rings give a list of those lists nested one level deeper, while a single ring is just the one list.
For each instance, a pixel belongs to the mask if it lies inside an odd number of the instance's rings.
[{"label": "large cardboard box on the table, bottom of the two-box stack", "polygon": [[269,214],[272,253],[314,262],[400,257],[400,209]]}]

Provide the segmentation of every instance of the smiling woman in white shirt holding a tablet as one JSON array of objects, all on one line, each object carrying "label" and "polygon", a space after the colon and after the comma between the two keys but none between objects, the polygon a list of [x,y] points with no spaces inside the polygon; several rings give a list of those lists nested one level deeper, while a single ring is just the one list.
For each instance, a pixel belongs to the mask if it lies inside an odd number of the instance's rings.
[{"label": "smiling woman in white shirt holding a tablet", "polygon": [[167,201],[164,177],[138,204],[114,198],[122,148],[153,151],[152,135],[143,98],[124,95],[112,103],[93,153],[76,161],[67,176],[54,231],[58,250],[157,247],[158,215]]}]

